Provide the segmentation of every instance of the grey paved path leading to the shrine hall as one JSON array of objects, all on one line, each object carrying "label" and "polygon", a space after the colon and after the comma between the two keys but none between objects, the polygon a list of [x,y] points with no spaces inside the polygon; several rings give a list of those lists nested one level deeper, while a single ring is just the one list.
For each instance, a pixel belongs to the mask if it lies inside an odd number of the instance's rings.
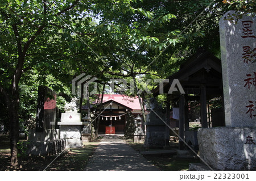
[{"label": "grey paved path leading to the shrine hall", "polygon": [[117,135],[104,135],[85,170],[158,171]]}]

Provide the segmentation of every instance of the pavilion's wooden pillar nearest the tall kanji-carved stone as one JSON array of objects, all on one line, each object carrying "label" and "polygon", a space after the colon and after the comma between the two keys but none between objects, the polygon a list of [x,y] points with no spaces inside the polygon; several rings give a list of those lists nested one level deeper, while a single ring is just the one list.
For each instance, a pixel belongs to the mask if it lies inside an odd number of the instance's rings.
[{"label": "pavilion's wooden pillar nearest the tall kanji-carved stone", "polygon": [[200,86],[200,111],[202,128],[207,128],[207,96],[205,85]]}]

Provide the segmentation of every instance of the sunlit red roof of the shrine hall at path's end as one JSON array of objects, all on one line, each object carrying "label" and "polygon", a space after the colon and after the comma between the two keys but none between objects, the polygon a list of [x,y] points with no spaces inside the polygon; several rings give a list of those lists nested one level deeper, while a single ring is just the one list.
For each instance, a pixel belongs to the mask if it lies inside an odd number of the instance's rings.
[{"label": "sunlit red roof of the shrine hall at path's end", "polygon": [[[100,98],[101,100],[101,98]],[[141,110],[141,105],[139,104],[138,96],[130,97],[127,95],[120,94],[104,94],[103,103],[113,100],[123,106],[129,107],[131,110]]]}]

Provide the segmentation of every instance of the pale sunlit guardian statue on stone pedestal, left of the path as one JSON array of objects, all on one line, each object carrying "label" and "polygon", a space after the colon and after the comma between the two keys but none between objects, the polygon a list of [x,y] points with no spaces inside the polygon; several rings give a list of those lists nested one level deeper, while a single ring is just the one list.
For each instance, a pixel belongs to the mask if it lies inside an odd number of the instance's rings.
[{"label": "pale sunlit guardian statue on stone pedestal, left of the path", "polygon": [[61,113],[60,122],[60,138],[66,140],[67,148],[76,148],[82,146],[81,129],[84,124],[81,122],[81,113],[77,112],[77,98],[72,98],[70,103],[66,103]]}]

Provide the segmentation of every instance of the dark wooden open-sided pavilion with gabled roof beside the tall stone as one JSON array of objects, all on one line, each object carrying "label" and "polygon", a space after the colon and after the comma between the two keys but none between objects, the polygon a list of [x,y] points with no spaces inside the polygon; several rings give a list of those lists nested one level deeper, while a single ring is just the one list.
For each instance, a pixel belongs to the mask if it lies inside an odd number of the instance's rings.
[{"label": "dark wooden open-sided pavilion with gabled roof beside the tall stone", "polygon": [[[207,128],[207,100],[221,97],[222,73],[221,60],[213,56],[207,50],[200,48],[190,57],[177,73],[168,77],[168,82],[163,83],[163,93],[167,94],[167,121],[170,117],[171,102],[179,103],[179,136],[184,139],[184,131],[189,130],[188,120],[188,101],[200,101],[200,119],[203,128]],[[179,91],[168,94],[174,79],[178,79],[183,87],[185,94]],[[179,90],[179,89],[178,89]],[[154,96],[160,94],[160,87],[152,90]],[[224,117],[224,115],[223,115]],[[170,121],[170,120],[169,120]],[[225,126],[225,120],[214,124],[215,126]],[[184,142],[179,139],[179,149],[184,149]]]}]

